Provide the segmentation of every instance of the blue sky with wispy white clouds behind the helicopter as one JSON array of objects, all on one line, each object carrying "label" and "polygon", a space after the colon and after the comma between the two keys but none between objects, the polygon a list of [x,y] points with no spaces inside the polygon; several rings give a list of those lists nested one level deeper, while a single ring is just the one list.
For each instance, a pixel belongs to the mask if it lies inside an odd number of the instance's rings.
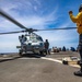
[{"label": "blue sky with wispy white clouds behind the helicopter", "polygon": [[[4,10],[16,21],[32,28],[75,27],[68,12],[77,15],[82,0],[0,0],[0,9]],[[22,31],[7,19],[0,16],[0,33]],[[47,38],[50,47],[77,47],[79,34],[77,30],[37,32],[44,40]],[[16,45],[19,35],[0,35],[0,52],[19,51]]]}]

